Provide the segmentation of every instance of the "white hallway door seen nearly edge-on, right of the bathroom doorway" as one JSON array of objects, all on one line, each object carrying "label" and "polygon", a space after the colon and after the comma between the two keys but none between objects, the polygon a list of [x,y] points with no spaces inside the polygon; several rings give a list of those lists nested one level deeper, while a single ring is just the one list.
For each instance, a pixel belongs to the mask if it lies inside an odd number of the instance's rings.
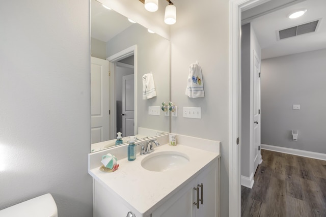
[{"label": "white hallway door seen nearly edge-on, right of the bathroom doorway", "polygon": [[254,174],[260,164],[260,60],[254,50],[253,71],[253,152],[254,152]]}]

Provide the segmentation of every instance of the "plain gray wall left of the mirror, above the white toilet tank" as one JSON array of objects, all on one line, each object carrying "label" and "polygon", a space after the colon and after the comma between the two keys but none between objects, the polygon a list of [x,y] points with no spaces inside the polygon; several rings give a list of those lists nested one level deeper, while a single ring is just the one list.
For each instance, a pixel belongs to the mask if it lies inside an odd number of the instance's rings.
[{"label": "plain gray wall left of the mirror, above the white toilet tank", "polygon": [[2,1],[0,209],[51,193],[92,216],[88,1]]}]

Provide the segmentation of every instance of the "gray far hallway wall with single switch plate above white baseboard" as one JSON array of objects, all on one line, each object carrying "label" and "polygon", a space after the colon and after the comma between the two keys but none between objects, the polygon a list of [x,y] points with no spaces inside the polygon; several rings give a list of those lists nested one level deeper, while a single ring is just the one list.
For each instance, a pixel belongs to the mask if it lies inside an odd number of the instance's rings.
[{"label": "gray far hallway wall with single switch plate above white baseboard", "polygon": [[[262,144],[326,153],[325,56],[322,49],[262,61]],[[298,130],[298,141],[291,130]]]}]

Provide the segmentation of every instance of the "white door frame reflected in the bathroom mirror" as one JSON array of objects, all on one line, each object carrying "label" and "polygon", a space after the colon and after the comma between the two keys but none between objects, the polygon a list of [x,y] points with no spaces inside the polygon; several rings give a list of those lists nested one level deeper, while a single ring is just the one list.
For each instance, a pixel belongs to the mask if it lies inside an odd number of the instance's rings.
[{"label": "white door frame reflected in the bathroom mirror", "polygon": [[[112,56],[109,56],[106,58],[106,60],[109,61],[108,68],[110,71],[110,115],[111,121],[110,122],[110,138],[114,139],[116,138],[116,132],[117,132],[117,117],[116,117],[116,110],[117,110],[117,104],[116,104],[116,92],[115,92],[115,72],[117,68],[117,62],[121,59],[127,58],[129,56],[133,55],[133,75],[134,75],[134,89],[137,90],[137,45],[133,45],[131,47],[128,47],[116,54],[113,54]],[[134,114],[137,114],[137,91],[134,91]],[[137,122],[137,115],[134,115],[134,132],[137,133],[138,129],[138,122]]]}]

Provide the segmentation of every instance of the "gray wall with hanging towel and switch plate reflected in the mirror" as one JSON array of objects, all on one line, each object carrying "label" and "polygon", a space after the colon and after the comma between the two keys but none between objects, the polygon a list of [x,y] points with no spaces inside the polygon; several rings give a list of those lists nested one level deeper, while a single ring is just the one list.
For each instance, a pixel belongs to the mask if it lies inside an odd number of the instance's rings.
[{"label": "gray wall with hanging towel and switch plate reflected in the mirror", "polygon": [[[139,24],[133,24],[106,43],[106,54],[111,56],[137,44],[137,93],[138,127],[169,132],[169,116],[148,115],[148,106],[160,106],[170,98],[170,42],[157,34],[147,32]],[[152,72],[157,97],[143,100],[143,75]],[[145,118],[146,117],[146,118]]]}]

